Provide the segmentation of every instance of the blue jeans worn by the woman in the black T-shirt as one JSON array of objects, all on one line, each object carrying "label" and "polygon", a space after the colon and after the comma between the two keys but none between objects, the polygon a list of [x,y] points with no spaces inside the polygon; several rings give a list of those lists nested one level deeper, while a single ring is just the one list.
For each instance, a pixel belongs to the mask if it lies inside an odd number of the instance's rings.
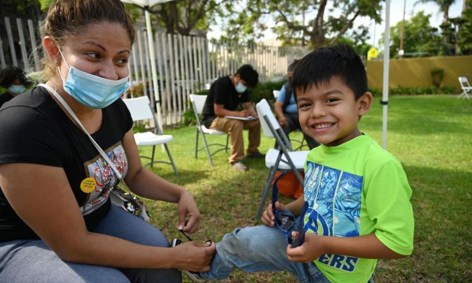
[{"label": "blue jeans worn by the woman in the black T-shirt", "polygon": [[[170,246],[157,228],[115,205],[91,232],[143,245]],[[182,276],[176,269],[112,268],[72,263],[61,260],[42,240],[15,240],[0,243],[0,282],[175,283],[182,282]]]}]

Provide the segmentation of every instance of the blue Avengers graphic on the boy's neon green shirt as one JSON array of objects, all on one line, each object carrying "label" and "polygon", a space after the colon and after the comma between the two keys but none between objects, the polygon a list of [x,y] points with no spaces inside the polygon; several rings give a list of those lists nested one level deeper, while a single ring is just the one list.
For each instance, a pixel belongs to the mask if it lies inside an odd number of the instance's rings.
[{"label": "blue Avengers graphic on the boy's neon green shirt", "polygon": [[[354,237],[359,235],[362,176],[307,161],[305,200],[306,232],[324,236]],[[354,271],[358,258],[323,255],[318,261],[334,268]]]}]

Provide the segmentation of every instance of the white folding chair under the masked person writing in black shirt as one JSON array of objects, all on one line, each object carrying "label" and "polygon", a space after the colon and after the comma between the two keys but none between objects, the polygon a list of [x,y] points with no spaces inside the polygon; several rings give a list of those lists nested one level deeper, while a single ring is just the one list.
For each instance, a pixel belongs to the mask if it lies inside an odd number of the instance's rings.
[{"label": "white folding chair under the masked person writing in black shirt", "polygon": [[[205,149],[207,151],[207,156],[208,156],[208,160],[210,161],[210,165],[213,166],[213,160],[211,159],[211,156],[213,154],[216,154],[217,152],[222,151],[222,150],[224,150],[225,152],[228,152],[228,149],[229,149],[228,148],[228,142],[229,142],[230,136],[224,131],[220,131],[220,130],[216,130],[216,129],[208,129],[207,127],[205,127],[205,125],[202,125],[202,123],[200,122],[199,115],[202,114],[203,107],[205,106],[205,101],[207,101],[207,96],[206,95],[191,94],[190,95],[190,101],[192,102],[193,111],[195,112],[195,118],[197,118],[197,125],[196,125],[197,126],[197,142],[195,144],[195,158],[198,157],[198,152],[199,151]],[[201,148],[198,148],[199,133],[202,134],[203,143],[204,143],[204,146],[201,147]],[[207,144],[207,138],[205,137],[206,134],[209,134],[209,135],[226,134],[226,145],[220,144],[220,143]],[[217,147],[221,147],[221,148],[214,151],[213,153],[210,153],[210,150],[209,150],[210,146],[217,146]]]}]

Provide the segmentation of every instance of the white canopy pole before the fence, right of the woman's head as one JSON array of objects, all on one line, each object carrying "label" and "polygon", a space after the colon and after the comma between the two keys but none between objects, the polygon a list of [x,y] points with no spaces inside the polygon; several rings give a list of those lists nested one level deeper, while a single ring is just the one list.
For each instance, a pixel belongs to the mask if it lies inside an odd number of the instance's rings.
[{"label": "white canopy pole before the fence, right of the woman's head", "polygon": [[152,88],[154,90],[154,100],[156,102],[157,119],[159,124],[162,126],[162,113],[161,113],[161,102],[159,100],[159,89],[157,86],[157,71],[156,71],[156,58],[154,54],[154,41],[152,40],[152,29],[151,29],[151,17],[149,15],[149,8],[155,4],[170,2],[172,0],[121,0],[125,3],[135,4],[144,9],[144,15],[146,18],[146,31],[148,34],[148,47],[149,47],[149,59],[151,60],[151,75],[152,75]]}]

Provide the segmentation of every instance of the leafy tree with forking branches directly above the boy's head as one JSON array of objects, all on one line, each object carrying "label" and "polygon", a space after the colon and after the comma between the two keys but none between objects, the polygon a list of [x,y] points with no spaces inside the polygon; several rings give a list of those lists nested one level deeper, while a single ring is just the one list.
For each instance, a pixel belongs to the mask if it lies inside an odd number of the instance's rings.
[{"label": "leafy tree with forking branches directly above the boy's head", "polygon": [[[381,22],[381,0],[246,0],[245,9],[227,11],[227,34],[258,36],[272,17],[273,31],[285,45],[308,44],[313,48],[333,45],[352,29],[358,17]],[[230,17],[232,14],[236,17]],[[330,15],[325,17],[326,13]],[[339,16],[334,16],[334,15]],[[239,29],[234,28],[239,27]],[[362,27],[361,27],[362,28]]]}]

